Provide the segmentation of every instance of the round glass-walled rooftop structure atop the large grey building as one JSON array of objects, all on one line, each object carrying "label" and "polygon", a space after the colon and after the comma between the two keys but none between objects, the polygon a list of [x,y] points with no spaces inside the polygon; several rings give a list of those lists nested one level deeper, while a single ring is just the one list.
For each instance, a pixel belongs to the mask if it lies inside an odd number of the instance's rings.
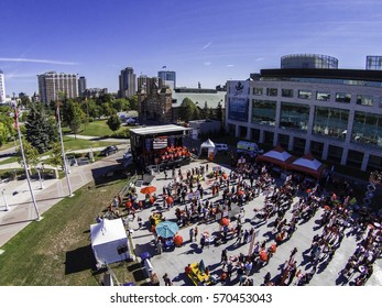
[{"label": "round glass-walled rooftop structure atop the large grey building", "polygon": [[327,55],[294,54],[281,58],[281,68],[338,68],[338,59]]}]

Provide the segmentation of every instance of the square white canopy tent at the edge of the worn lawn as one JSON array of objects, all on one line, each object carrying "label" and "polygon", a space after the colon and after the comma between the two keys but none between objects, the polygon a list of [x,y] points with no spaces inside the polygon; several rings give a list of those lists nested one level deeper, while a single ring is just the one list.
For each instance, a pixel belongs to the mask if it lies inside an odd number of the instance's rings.
[{"label": "square white canopy tent at the edge of the worn lawn", "polygon": [[108,220],[90,226],[90,240],[99,264],[111,264],[128,257],[128,237],[122,219]]}]

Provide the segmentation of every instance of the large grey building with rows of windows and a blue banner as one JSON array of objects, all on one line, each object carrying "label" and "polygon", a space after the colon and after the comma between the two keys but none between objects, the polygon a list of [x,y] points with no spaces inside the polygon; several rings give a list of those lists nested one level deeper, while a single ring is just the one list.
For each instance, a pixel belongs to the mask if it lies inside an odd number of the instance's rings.
[{"label": "large grey building with rows of windows and a blue banner", "polygon": [[262,69],[258,80],[228,81],[226,106],[238,138],[382,169],[382,72]]}]

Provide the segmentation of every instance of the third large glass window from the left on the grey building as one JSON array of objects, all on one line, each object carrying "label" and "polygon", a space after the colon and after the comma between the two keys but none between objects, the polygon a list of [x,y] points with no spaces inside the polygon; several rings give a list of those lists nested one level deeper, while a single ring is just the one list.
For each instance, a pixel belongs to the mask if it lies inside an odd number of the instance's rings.
[{"label": "third large glass window from the left on the grey building", "polygon": [[316,107],[313,133],[345,140],[349,111],[338,108]]}]

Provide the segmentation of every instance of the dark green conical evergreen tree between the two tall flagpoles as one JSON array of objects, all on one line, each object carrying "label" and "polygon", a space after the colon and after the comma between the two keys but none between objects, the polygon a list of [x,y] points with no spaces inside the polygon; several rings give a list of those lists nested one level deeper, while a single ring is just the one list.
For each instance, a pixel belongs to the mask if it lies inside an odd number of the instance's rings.
[{"label": "dark green conical evergreen tree between the two tall flagpoles", "polygon": [[53,141],[51,138],[56,136],[55,127],[51,123],[41,105],[30,105],[30,112],[25,122],[25,139],[39,153],[46,152]]}]

